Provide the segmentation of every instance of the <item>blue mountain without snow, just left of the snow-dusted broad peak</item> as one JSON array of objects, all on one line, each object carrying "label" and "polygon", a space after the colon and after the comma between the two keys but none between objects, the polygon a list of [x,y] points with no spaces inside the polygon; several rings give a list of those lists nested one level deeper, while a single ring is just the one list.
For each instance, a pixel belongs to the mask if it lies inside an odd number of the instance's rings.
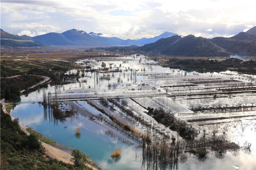
[{"label": "blue mountain without snow, just left of the snow-dusted broad peak", "polygon": [[60,33],[46,33],[32,37],[32,40],[48,45],[76,45]]}]

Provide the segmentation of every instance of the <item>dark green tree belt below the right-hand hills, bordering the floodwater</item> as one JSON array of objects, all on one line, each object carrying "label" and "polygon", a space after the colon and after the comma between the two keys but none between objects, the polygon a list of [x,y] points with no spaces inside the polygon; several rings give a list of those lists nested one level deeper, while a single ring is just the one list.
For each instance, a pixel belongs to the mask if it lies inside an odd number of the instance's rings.
[{"label": "dark green tree belt below the right-hand hills, bordering the floodwater", "polygon": [[237,58],[229,58],[223,61],[204,59],[170,59],[167,64],[171,67],[190,67],[211,70],[233,70],[240,72],[256,73],[256,60],[243,61]]}]

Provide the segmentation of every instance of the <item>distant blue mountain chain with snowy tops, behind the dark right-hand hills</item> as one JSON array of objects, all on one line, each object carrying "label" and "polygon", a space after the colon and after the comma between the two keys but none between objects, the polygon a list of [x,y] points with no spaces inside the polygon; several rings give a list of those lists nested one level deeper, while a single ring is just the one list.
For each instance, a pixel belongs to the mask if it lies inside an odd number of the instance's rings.
[{"label": "distant blue mountain chain with snowy tops, behind the dark right-hand hills", "polygon": [[[3,36],[2,36],[3,33]],[[144,45],[148,43],[155,42],[161,38],[167,38],[173,35],[178,35],[176,33],[164,32],[161,35],[155,36],[153,38],[142,38],[139,40],[123,40],[117,37],[104,37],[102,33],[89,34],[83,30],[71,29],[63,33],[46,33],[43,35],[38,35],[35,37],[30,37],[28,35],[13,35],[7,34],[1,29],[1,39],[9,37],[9,40],[30,40],[38,42],[45,45],[98,45],[98,46],[109,46],[109,45]],[[12,36],[11,36],[12,35]]]}]

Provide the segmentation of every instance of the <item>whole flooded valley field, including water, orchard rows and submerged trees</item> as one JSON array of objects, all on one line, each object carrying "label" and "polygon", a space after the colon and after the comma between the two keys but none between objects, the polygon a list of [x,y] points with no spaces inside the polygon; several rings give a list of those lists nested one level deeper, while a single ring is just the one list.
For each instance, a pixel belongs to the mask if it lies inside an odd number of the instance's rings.
[{"label": "whole flooded valley field, including water, orchard rows and submerged trees", "polygon": [[[11,115],[103,169],[256,168],[255,75],[173,69],[143,55],[75,63],[84,69],[22,95]],[[73,114],[59,118],[50,104]],[[231,142],[240,147],[213,147]]]}]

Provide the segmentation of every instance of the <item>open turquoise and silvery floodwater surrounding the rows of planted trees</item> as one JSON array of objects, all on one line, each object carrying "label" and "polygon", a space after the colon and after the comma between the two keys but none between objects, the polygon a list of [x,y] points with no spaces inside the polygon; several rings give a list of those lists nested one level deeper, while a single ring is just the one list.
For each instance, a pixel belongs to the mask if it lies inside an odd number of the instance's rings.
[{"label": "open turquoise and silvery floodwater surrounding the rows of planted trees", "polygon": [[[139,59],[141,61],[139,61]],[[75,80],[70,80],[67,85],[61,86],[48,86],[45,89],[46,94],[48,92],[58,93],[70,93],[70,92],[92,92],[96,93],[116,92],[128,90],[132,87],[137,87],[138,84],[148,83],[148,86],[156,85],[154,81],[150,85],[150,81],[145,78],[145,74],[171,74],[174,76],[184,77],[184,73],[187,71],[187,75],[197,76],[203,75],[204,77],[220,76],[226,77],[227,74],[220,74],[217,72],[197,73],[195,70],[181,70],[164,68],[159,65],[154,65],[157,62],[146,59],[145,56],[134,57],[120,57],[119,60],[106,59],[104,62],[107,67],[109,63],[113,63],[113,69],[122,65],[123,72],[115,72],[113,75],[110,73],[110,79],[96,79],[96,76],[103,76],[103,73],[96,75],[94,72],[85,73],[84,78],[80,78],[79,83]],[[88,60],[89,61],[89,60]],[[91,66],[97,69],[101,65],[101,60],[90,60]],[[89,61],[89,62],[90,62]],[[124,62],[125,61],[125,62]],[[83,60],[77,61],[81,63]],[[140,63],[140,64],[139,64]],[[84,64],[85,65],[85,64]],[[137,70],[135,78],[132,78],[131,71],[124,71],[128,67]],[[76,70],[72,70],[76,72]],[[231,74],[235,79],[239,78],[240,74],[227,71],[225,73]],[[67,72],[68,74],[68,72]],[[87,75],[86,75],[87,74]],[[116,83],[117,78],[121,78],[122,81],[118,83],[117,87],[108,87],[108,84]],[[96,79],[96,80],[95,80]],[[85,83],[84,80],[87,80]],[[98,81],[97,81],[98,80]],[[68,80],[69,81],[69,80]],[[129,84],[129,85],[128,85]],[[90,86],[90,88],[89,88]],[[150,87],[151,88],[151,87]],[[96,93],[95,93],[96,92]],[[110,93],[111,94],[111,93]],[[20,104],[16,105],[11,111],[11,115],[15,118],[19,118],[19,122],[22,126],[26,126],[41,133],[44,137],[52,139],[59,144],[66,145],[73,149],[78,149],[89,156],[99,167],[103,169],[151,169],[147,164],[142,162],[142,149],[140,144],[132,139],[127,138],[121,132],[111,129],[103,123],[97,121],[91,121],[89,117],[76,114],[65,120],[57,120],[53,117],[51,111],[45,109],[42,105],[38,104],[38,101],[43,100],[43,90],[31,92],[29,94],[22,95],[20,97]],[[34,101],[35,103],[26,103]],[[91,113],[98,115],[98,110],[88,105],[86,101],[77,101],[78,106],[85,107]],[[67,128],[64,128],[67,126]],[[81,136],[75,135],[75,129],[81,129]],[[235,169],[234,166],[238,166],[240,169],[256,169],[255,161],[255,121],[244,129],[243,132],[239,132],[241,135],[232,137],[232,140],[242,145],[245,141],[252,143],[251,152],[244,152],[240,150],[238,153],[228,151],[223,157],[218,157],[214,153],[208,154],[208,158],[204,161],[197,160],[197,158],[190,153],[188,160],[185,163],[178,163],[167,166],[166,169]],[[105,130],[109,129],[113,131],[116,136],[110,136],[105,133]],[[132,143],[132,144],[131,144]],[[122,152],[120,159],[112,159],[110,157],[111,152],[115,149],[119,149]]]}]

